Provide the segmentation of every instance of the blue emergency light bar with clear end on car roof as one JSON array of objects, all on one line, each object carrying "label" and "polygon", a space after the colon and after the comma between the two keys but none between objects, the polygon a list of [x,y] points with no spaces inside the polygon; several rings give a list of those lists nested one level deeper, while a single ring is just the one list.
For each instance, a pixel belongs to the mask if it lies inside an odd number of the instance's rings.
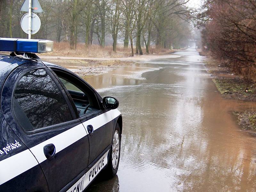
[{"label": "blue emergency light bar with clear end on car roof", "polygon": [[53,51],[53,41],[40,39],[0,38],[0,51],[47,53]]}]

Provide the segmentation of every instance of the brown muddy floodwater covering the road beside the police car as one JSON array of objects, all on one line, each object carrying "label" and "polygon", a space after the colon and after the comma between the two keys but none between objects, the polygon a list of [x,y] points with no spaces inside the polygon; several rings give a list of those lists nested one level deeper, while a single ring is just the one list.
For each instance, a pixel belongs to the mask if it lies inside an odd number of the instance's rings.
[{"label": "brown muddy floodwater covering the road beside the police car", "polygon": [[[194,48],[87,78],[123,114],[117,176],[88,191],[255,191],[256,138],[222,98]],[[104,176],[103,176],[104,177]]]}]

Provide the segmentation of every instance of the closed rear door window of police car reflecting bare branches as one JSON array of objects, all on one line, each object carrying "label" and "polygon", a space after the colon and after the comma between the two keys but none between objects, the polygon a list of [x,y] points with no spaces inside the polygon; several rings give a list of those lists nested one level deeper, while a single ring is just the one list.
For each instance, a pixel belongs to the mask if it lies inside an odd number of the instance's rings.
[{"label": "closed rear door window of police car reflecting bare branches", "polygon": [[72,120],[60,89],[44,69],[25,74],[17,84],[15,98],[35,128]]}]

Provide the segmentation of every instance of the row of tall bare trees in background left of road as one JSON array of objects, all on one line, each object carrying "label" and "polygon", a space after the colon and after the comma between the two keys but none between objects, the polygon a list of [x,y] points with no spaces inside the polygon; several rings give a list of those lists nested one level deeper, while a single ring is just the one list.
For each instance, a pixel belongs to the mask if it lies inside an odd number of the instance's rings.
[{"label": "row of tall bare trees in background left of road", "polygon": [[[189,0],[44,0],[44,10],[39,14],[41,29],[33,38],[70,42],[76,49],[77,42],[85,46],[100,44],[112,37],[113,51],[118,41],[124,47],[133,43],[136,53],[143,54],[141,46],[156,48],[180,48],[187,45],[190,11]],[[23,0],[0,1],[0,36],[26,37],[20,28],[24,12],[19,8]]]}]

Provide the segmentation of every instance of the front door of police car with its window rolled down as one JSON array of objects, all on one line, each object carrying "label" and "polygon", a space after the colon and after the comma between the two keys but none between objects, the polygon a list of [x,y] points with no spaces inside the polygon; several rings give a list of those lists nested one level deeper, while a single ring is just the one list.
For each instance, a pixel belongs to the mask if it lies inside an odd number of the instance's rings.
[{"label": "front door of police car with its window rolled down", "polygon": [[[90,168],[111,146],[113,138],[111,112],[102,108],[102,99],[83,79],[65,69],[52,68],[52,70],[73,100],[76,110],[79,111],[79,119],[89,133]],[[82,106],[88,109],[84,112]]]}]

